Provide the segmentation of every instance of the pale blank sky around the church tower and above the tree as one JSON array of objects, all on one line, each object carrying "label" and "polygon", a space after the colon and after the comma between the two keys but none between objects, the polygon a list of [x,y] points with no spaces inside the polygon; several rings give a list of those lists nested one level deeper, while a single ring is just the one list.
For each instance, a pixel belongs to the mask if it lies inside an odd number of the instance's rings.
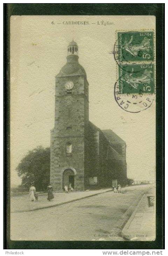
[{"label": "pale blank sky around the church tower and above the tree", "polygon": [[[73,25],[72,21],[79,24]],[[89,24],[82,25],[84,21]],[[154,180],[155,102],[140,113],[129,113],[118,106],[114,99],[117,63],[111,54],[117,31],[145,29],[155,29],[154,16],[11,17],[12,186],[21,183],[15,169],[28,151],[39,145],[50,146],[50,130],[54,127],[55,76],[66,63],[67,47],[72,38],[78,44],[79,63],[85,68],[89,82],[90,121],[100,129],[112,129],[126,142],[128,178]]]}]

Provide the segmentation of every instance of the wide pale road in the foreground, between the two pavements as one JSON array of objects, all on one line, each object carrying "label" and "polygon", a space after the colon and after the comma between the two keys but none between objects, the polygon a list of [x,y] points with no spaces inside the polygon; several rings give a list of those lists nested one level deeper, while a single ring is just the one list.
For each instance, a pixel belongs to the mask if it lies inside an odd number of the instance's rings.
[{"label": "wide pale road in the foreground, between the two pavements", "polygon": [[124,240],[121,230],[150,185],[123,188],[62,206],[11,213],[11,240]]}]

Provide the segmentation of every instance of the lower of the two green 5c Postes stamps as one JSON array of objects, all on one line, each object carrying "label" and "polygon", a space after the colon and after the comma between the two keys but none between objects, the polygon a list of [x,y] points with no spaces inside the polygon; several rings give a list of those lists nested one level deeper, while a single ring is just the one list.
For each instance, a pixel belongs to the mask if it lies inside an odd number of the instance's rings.
[{"label": "lower of the two green 5c Postes stamps", "polygon": [[118,66],[120,94],[152,94],[155,92],[153,64],[132,64]]}]

